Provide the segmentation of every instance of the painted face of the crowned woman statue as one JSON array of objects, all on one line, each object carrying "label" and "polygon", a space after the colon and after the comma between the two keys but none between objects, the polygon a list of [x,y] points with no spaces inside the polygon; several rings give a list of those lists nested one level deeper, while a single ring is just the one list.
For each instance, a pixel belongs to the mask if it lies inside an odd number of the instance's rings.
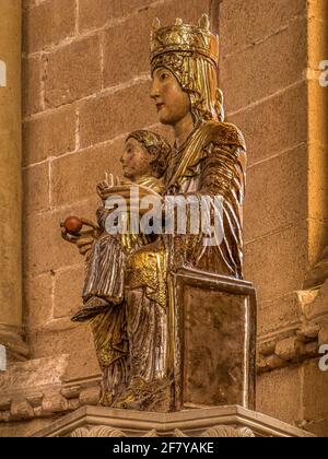
[{"label": "painted face of the crowned woman statue", "polygon": [[174,74],[164,67],[153,73],[151,97],[154,99],[160,121],[175,126],[191,110],[189,96],[181,90]]}]

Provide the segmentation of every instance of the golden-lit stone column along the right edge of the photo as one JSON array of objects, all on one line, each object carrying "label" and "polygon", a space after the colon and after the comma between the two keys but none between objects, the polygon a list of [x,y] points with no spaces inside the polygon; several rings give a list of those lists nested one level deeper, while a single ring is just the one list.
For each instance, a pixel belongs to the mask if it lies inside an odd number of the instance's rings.
[{"label": "golden-lit stone column along the right edge of the photo", "polygon": [[328,279],[328,2],[313,0],[308,11],[309,205],[320,219],[321,226],[325,224],[321,232],[314,227],[314,242],[321,236],[326,248],[312,266],[303,285],[305,290],[319,289]]}]

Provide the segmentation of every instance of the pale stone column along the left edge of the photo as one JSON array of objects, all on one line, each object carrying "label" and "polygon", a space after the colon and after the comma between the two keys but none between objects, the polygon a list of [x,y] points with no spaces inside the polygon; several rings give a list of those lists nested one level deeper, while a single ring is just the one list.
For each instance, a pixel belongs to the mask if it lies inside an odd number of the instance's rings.
[{"label": "pale stone column along the left edge of the photo", "polygon": [[0,0],[0,344],[23,360],[21,0]]}]

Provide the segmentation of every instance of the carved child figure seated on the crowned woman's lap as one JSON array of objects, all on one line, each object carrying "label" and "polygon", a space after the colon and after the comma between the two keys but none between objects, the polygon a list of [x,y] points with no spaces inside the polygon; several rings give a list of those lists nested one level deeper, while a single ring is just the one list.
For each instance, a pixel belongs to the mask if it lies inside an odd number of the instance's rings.
[{"label": "carved child figure seated on the crowned woman's lap", "polygon": [[169,154],[171,146],[163,137],[147,130],[134,131],[127,138],[120,158],[124,180],[114,185],[112,178],[112,184],[109,180],[103,180],[97,185],[97,193],[102,199],[96,212],[101,232],[86,258],[83,306],[72,317],[73,321],[86,321],[106,311],[110,306],[122,303],[126,258],[137,248],[152,243],[155,237],[142,233],[131,234],[129,231],[126,234],[108,234],[108,193],[113,195],[115,186],[129,181],[131,185],[138,185],[141,190],[144,188],[145,195],[151,190],[154,195],[162,196],[164,187],[161,177],[166,170]]}]

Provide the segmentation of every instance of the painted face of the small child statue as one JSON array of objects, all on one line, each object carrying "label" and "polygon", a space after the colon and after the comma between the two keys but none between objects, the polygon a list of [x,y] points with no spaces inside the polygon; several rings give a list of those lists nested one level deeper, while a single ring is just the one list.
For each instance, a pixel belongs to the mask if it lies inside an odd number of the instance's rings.
[{"label": "painted face of the small child statue", "polygon": [[128,139],[125,150],[120,162],[126,178],[136,181],[138,177],[153,175],[152,157],[141,143],[136,139]]}]

